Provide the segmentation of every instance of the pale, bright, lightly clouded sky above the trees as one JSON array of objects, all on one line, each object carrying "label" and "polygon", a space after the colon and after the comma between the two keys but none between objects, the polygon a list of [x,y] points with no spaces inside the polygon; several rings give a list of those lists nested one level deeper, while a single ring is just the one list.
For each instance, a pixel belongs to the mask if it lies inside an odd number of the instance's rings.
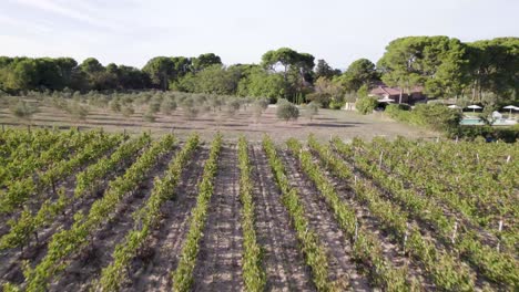
[{"label": "pale, bright, lightly clouded sky above the trees", "polygon": [[401,36],[519,36],[518,14],[519,0],[0,0],[0,55],[142,67],[210,52],[260,63],[288,46],[344,70]]}]

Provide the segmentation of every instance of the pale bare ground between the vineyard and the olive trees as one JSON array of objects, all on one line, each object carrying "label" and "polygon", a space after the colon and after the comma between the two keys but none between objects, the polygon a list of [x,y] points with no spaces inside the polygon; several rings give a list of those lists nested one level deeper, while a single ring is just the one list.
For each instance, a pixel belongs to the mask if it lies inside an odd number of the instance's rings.
[{"label": "pale bare ground between the vineyard and the olive trees", "polygon": [[[258,119],[250,109],[240,109],[233,116],[218,111],[207,112],[189,119],[179,108],[171,115],[157,114],[154,123],[144,122],[144,111],[139,108],[134,115],[124,117],[105,108],[92,107],[85,121],[73,119],[69,114],[53,107],[41,106],[40,111],[31,121],[35,126],[103,127],[108,132],[125,129],[134,134],[150,131],[157,136],[171,132],[187,136],[196,131],[205,140],[210,140],[216,131],[222,132],[226,139],[234,140],[240,135],[245,135],[251,142],[261,140],[264,134],[271,135],[277,142],[285,140],[287,137],[305,139],[311,133],[314,133],[320,140],[328,139],[330,135],[346,140],[356,136],[364,139],[372,139],[375,136],[394,138],[398,135],[424,138],[438,136],[437,133],[395,122],[381,113],[360,115],[352,111],[319,109],[318,115],[312,121],[299,117],[298,121],[288,123],[277,119],[275,107],[268,107]],[[8,108],[0,109],[0,124],[20,126],[24,123],[14,118]]]}]

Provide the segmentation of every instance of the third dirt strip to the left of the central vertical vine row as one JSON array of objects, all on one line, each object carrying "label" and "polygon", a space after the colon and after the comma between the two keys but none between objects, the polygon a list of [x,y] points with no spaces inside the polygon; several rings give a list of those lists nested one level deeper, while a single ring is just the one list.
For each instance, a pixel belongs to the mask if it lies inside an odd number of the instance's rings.
[{"label": "third dirt strip to the left of the central vertical vine row", "polygon": [[147,200],[153,190],[153,179],[164,174],[175,152],[170,150],[157,157],[157,164],[146,174],[139,188],[118,205],[110,223],[94,232],[90,246],[75,254],[61,277],[51,283],[51,291],[88,291],[92,288],[91,284],[99,279],[101,270],[112,262],[115,246],[133,228],[132,213]]}]

